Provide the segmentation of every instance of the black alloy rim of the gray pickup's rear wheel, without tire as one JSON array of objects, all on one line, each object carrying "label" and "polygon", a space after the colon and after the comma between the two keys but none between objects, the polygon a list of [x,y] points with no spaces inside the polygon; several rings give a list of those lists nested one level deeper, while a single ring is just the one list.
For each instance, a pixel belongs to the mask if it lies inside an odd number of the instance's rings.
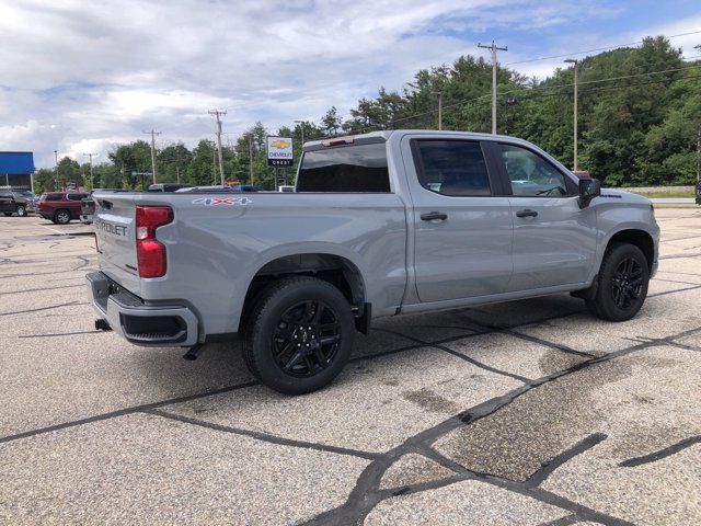
[{"label": "black alloy rim of the gray pickup's rear wheel, without tire", "polygon": [[342,338],[338,316],[331,306],[299,302],[283,312],[273,333],[275,363],[288,375],[314,376],[329,367]]}]

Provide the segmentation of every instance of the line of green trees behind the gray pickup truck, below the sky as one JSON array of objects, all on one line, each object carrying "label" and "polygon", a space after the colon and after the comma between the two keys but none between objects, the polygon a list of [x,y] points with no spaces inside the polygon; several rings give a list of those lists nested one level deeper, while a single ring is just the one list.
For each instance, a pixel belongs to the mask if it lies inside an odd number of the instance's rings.
[{"label": "line of green trees behind the gray pickup truck, below the sky", "polygon": [[[697,46],[701,52],[701,46]],[[564,65],[563,65],[564,66]],[[578,133],[581,170],[609,186],[692,184],[701,153],[701,60],[685,61],[669,41],[647,37],[579,60]],[[497,132],[530,140],[572,167],[574,72],[559,68],[544,80],[498,67]],[[462,56],[451,65],[420,70],[400,91],[380,88],[376,98],[358,101],[343,118],[331,107],[318,122],[296,123],[274,133],[256,123],[235,144],[222,147],[228,181],[275,188],[266,165],[267,135],[292,137],[295,162],[301,138],[314,140],[378,129],[436,128],[437,96],[443,95],[443,129],[491,130],[492,65]],[[150,146],[137,140],[117,146],[110,161],[93,167],[62,158],[57,171],[42,169],[35,185],[44,191],[57,180],[85,187],[141,188],[148,181],[131,172],[150,172]],[[192,150],[182,142],[158,151],[159,182],[219,184],[215,142],[200,140]],[[290,169],[294,176],[296,167]],[[58,173],[58,176],[57,176]]]}]

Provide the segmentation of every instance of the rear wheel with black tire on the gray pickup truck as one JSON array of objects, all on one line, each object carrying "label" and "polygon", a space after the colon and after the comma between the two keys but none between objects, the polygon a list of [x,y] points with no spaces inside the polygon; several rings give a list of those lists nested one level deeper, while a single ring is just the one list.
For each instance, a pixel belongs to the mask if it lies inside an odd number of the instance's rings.
[{"label": "rear wheel with black tire on the gray pickup truck", "polygon": [[294,276],[261,293],[244,331],[243,357],[263,384],[285,395],[329,385],[353,348],[350,306],[333,285]]}]

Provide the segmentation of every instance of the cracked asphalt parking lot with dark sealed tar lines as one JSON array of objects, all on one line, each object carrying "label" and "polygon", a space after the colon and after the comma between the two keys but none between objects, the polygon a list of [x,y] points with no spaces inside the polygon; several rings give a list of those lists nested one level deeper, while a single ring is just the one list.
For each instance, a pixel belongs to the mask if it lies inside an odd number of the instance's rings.
[{"label": "cracked asphalt parking lot with dark sealed tar lines", "polygon": [[96,332],[90,227],[0,217],[0,523],[701,523],[701,208],[642,312],[567,295],[379,321],[284,397],[238,344]]}]

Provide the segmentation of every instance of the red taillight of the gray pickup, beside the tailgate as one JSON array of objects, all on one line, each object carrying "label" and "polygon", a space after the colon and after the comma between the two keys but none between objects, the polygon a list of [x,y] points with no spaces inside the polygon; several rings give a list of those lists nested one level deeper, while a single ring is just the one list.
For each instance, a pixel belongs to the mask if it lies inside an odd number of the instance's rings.
[{"label": "red taillight of the gray pickup, beside the tailgate", "polygon": [[170,206],[136,207],[136,255],[139,276],[165,275],[165,247],[156,239],[156,229],[173,221]]}]

